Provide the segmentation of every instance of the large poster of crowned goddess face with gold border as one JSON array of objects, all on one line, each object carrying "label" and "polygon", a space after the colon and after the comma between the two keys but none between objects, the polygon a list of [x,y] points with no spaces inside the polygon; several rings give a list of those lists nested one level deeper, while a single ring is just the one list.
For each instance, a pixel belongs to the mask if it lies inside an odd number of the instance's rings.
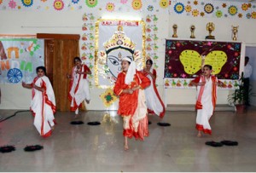
[{"label": "large poster of crowned goddess face with gold border", "polygon": [[98,20],[96,22],[95,83],[101,88],[112,87],[119,72],[121,59],[132,57],[137,69],[145,58],[145,24],[143,20]]}]

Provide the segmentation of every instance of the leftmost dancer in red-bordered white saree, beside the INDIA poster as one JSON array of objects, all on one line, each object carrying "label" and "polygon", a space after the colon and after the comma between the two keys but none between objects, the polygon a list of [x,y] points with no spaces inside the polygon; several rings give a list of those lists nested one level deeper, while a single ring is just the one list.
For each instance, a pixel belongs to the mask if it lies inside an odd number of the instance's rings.
[{"label": "leftmost dancer in red-bordered white saree, beside the INDIA poster", "polygon": [[34,125],[40,136],[48,137],[51,136],[55,125],[55,94],[49,82],[49,78],[45,76],[45,67],[38,66],[37,73],[38,77],[34,78],[32,84],[22,82],[22,86],[27,89],[32,89],[30,109],[34,116]]}]

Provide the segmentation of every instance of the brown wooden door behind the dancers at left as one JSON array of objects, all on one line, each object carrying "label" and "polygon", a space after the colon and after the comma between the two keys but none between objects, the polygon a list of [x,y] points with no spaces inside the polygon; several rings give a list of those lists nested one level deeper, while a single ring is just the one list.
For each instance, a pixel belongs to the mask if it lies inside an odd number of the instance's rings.
[{"label": "brown wooden door behind the dancers at left", "polygon": [[78,34],[47,34],[38,33],[37,38],[44,39],[44,64],[47,76],[55,92],[58,111],[69,111],[70,102],[67,99],[69,79],[73,58],[79,56]]}]

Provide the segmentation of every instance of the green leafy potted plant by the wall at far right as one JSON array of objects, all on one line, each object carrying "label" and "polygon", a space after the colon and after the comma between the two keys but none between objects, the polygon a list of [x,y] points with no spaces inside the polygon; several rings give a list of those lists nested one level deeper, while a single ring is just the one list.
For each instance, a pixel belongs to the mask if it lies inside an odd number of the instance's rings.
[{"label": "green leafy potted plant by the wall at far right", "polygon": [[241,78],[238,80],[238,83],[235,85],[236,89],[234,93],[230,94],[228,96],[228,101],[230,102],[230,105],[236,107],[236,112],[244,112],[247,109],[247,106],[245,105],[245,102],[247,100],[247,93],[248,95],[254,95],[251,92],[251,89],[247,91],[247,89],[244,86],[244,77],[243,72],[241,72]]}]

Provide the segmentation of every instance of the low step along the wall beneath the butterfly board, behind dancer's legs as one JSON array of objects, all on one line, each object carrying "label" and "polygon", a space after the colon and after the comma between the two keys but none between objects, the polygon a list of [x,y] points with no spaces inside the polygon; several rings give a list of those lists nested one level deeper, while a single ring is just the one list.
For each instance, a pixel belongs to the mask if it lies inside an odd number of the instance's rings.
[{"label": "low step along the wall beneath the butterfly board, behind dancer's legs", "polygon": [[[195,111],[195,105],[167,105],[166,111]],[[230,105],[216,105],[215,111],[235,111]]]}]

